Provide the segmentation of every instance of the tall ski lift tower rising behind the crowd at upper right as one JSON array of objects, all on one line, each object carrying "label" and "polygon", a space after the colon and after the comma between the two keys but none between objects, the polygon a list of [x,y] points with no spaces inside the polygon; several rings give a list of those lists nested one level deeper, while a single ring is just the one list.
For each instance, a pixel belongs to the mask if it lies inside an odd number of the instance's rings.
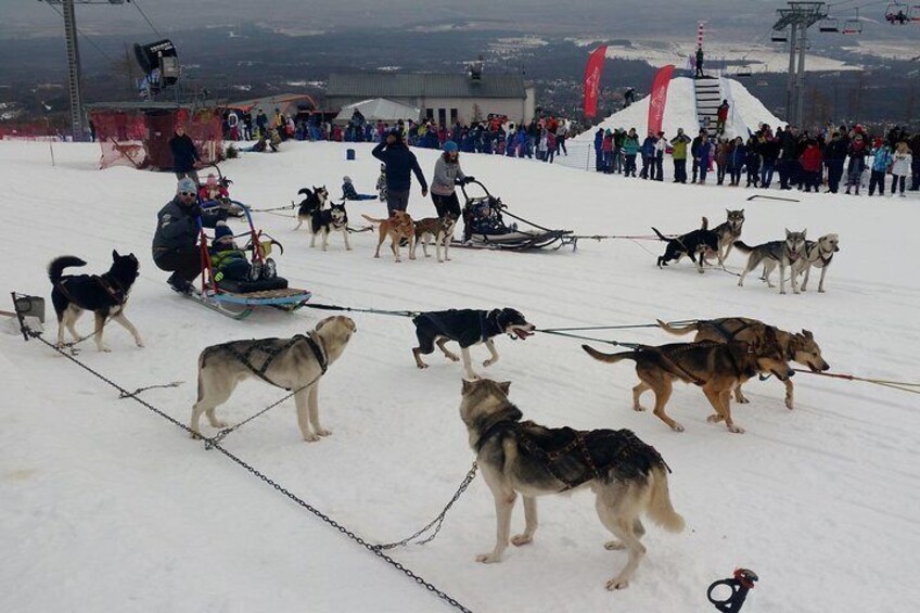
[{"label": "tall ski lift tower rising behind the crowd at upper right", "polygon": [[[789,30],[789,84],[785,89],[785,113],[789,123],[798,126],[805,102],[805,53],[808,50],[808,28],[828,18],[827,2],[789,2],[788,9],[777,10],[775,33]],[[781,38],[776,38],[781,40]],[[795,54],[798,53],[796,64]]]}]

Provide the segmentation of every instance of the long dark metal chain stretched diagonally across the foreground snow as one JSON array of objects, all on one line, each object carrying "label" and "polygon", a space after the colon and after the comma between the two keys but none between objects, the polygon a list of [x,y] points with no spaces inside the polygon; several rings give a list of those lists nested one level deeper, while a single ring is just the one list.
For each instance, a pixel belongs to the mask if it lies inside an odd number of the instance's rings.
[{"label": "long dark metal chain stretched diagonally across the foreground snow", "polygon": [[[30,339],[37,339],[38,341],[41,341],[42,343],[48,345],[50,348],[54,349],[55,352],[58,352],[59,354],[61,354],[62,356],[64,356],[68,360],[73,361],[78,367],[80,367],[84,370],[88,371],[89,373],[93,374],[95,378],[100,379],[101,381],[104,381],[105,383],[107,383],[108,385],[111,385],[112,387],[117,389],[123,395],[123,397],[131,398],[132,400],[139,403],[140,405],[142,405],[146,409],[158,414],[159,417],[162,417],[166,421],[168,421],[168,422],[173,423],[174,425],[177,425],[180,429],[184,430],[189,434],[192,434],[192,435],[195,434],[194,432],[192,432],[192,429],[190,429],[184,423],[177,421],[175,418],[166,414],[165,412],[157,409],[156,407],[154,407],[153,405],[151,405],[150,403],[148,403],[143,398],[140,398],[139,396],[137,396],[136,394],[131,394],[130,392],[128,392],[127,389],[125,389],[124,387],[122,387],[120,385],[118,385],[117,383],[115,383],[114,381],[112,381],[111,379],[105,376],[104,374],[102,374],[99,371],[92,369],[91,367],[82,363],[76,357],[67,354],[61,347],[58,347],[54,344],[49,343],[48,341],[46,341],[44,339],[41,337],[40,332],[36,332],[36,331],[29,329],[26,325],[23,327],[23,332],[26,333],[27,336],[30,337]],[[290,397],[290,396],[288,396],[288,397]],[[277,403],[276,403],[276,405],[277,405]],[[271,407],[269,407],[269,408],[271,408]],[[265,409],[265,410],[267,410],[267,409]],[[263,410],[261,412],[265,412],[265,410]],[[257,414],[260,414],[260,413],[257,413]],[[254,416],[254,417],[256,417],[256,416]],[[250,419],[254,419],[254,418],[250,418]],[[248,420],[246,420],[246,421],[248,421]],[[245,423],[245,422],[243,422],[243,423]],[[240,425],[242,425],[242,423],[238,424],[235,427],[239,427]],[[418,585],[424,587],[426,590],[434,593],[435,596],[437,596],[438,598],[440,598],[442,600],[444,600],[445,602],[447,602],[448,604],[450,604],[455,609],[457,609],[459,611],[463,611],[463,613],[472,613],[472,610],[470,610],[467,606],[464,606],[463,604],[461,604],[456,598],[451,597],[446,591],[438,589],[434,584],[426,582],[424,578],[417,575],[410,569],[404,566],[400,562],[398,562],[397,560],[394,560],[393,558],[391,558],[386,553],[384,553],[383,550],[378,548],[378,546],[368,542],[367,540],[365,540],[363,538],[361,538],[360,536],[358,536],[354,532],[349,531],[348,528],[346,528],[345,526],[343,526],[342,524],[340,524],[338,522],[336,522],[335,520],[333,520],[332,518],[330,518],[329,515],[327,515],[325,513],[323,513],[322,511],[320,511],[316,507],[311,506],[307,501],[299,498],[296,494],[292,494],[291,491],[285,489],[283,486],[281,486],[279,483],[273,481],[271,477],[259,472],[257,469],[253,468],[252,465],[246,463],[244,460],[242,460],[238,456],[233,455],[228,449],[225,449],[223,447],[221,447],[219,443],[220,442],[217,437],[210,438],[210,439],[205,439],[205,445],[209,444],[210,445],[209,448],[217,449],[218,451],[223,454],[228,459],[232,460],[233,462],[235,462],[240,467],[244,468],[246,471],[248,471],[250,473],[257,476],[260,481],[270,485],[276,490],[283,494],[285,497],[288,497],[292,501],[296,502],[297,505],[299,505],[301,507],[303,507],[304,509],[306,509],[307,511],[309,511],[310,513],[312,513],[314,515],[316,515],[317,518],[319,518],[320,520],[322,520],[327,524],[331,525],[332,527],[337,529],[340,533],[344,534],[345,536],[347,536],[348,538],[350,538],[352,540],[354,540],[355,542],[357,542],[358,545],[360,545],[361,547],[363,547],[365,549],[367,549],[368,551],[370,551],[371,553],[373,553],[374,555],[380,558],[381,560],[387,562],[391,566],[400,571],[403,574],[405,574],[407,577],[409,577],[410,579],[416,582]],[[474,468],[475,468],[475,464],[474,464]],[[470,481],[472,481],[472,478],[470,478]],[[463,489],[465,489],[465,487]],[[459,496],[459,494],[458,494],[458,496]],[[452,501],[451,501],[451,503],[452,503]]]}]

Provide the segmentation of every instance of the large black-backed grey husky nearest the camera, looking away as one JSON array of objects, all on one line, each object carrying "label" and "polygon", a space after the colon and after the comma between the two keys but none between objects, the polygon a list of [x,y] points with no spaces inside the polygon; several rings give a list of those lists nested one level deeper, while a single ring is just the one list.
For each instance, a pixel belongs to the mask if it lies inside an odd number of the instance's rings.
[{"label": "large black-backed grey husky nearest the camera, looking away", "polygon": [[[495,497],[497,520],[495,547],[476,561],[500,562],[509,538],[516,547],[533,541],[537,496],[590,488],[601,523],[617,538],[605,544],[606,549],[626,549],[629,555],[606,588],[627,587],[646,554],[640,516],[648,514],[670,532],[683,529],[683,518],[670,503],[667,464],[628,430],[576,431],[522,422],[521,411],[508,399],[510,386],[488,379],[463,381],[460,418]],[[518,494],[524,498],[525,526],[511,537]]]}]

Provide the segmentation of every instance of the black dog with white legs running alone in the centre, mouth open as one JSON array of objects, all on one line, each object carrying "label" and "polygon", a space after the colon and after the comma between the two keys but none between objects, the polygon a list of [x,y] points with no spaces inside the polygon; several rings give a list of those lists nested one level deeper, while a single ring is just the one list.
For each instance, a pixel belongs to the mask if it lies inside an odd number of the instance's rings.
[{"label": "black dog with white legs running alone in the centre, mouth open", "polygon": [[427,368],[422,361],[422,354],[429,355],[434,352],[434,346],[451,360],[458,361],[457,354],[448,350],[444,344],[456,341],[460,345],[460,355],[463,356],[463,372],[467,379],[478,379],[473,372],[470,358],[470,347],[485,343],[489,352],[489,359],[483,362],[489,367],[498,361],[498,352],[495,350],[493,339],[499,334],[508,334],[512,339],[526,339],[534,333],[536,327],[529,323],[521,311],[513,308],[496,308],[493,310],[475,309],[450,309],[420,312],[412,318],[416,324],[416,337],[419,346],[412,348],[416,357],[416,366]]}]

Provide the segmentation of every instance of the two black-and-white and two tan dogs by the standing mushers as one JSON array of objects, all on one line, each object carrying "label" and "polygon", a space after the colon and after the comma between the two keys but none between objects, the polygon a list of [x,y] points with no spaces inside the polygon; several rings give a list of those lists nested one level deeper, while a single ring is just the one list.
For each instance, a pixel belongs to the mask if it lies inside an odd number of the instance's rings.
[{"label": "two black-and-white and two tan dogs by the standing mushers", "polygon": [[[345,210],[345,201],[332,203],[330,208],[324,208],[329,201],[329,191],[324,186],[314,187],[312,189],[304,188],[297,193],[305,197],[297,206],[297,226],[294,230],[307,224],[312,234],[310,247],[316,246],[316,238],[320,235],[322,237],[322,251],[327,251],[329,234],[341,232],[345,248],[352,251],[352,244],[348,241],[348,214]],[[378,227],[380,240],[376,244],[374,257],[380,257],[380,247],[386,239],[389,239],[389,248],[397,263],[403,261],[399,247],[404,244],[409,247],[409,259],[416,259],[416,250],[420,243],[425,257],[430,257],[429,244],[433,241],[437,261],[442,264],[450,261],[450,241],[453,240],[453,230],[457,226],[457,217],[450,213],[445,214],[444,217],[425,217],[424,219],[412,219],[405,210],[394,210],[393,215],[386,219],[378,219],[368,215],[361,215],[361,217]],[[444,250],[444,256],[442,256],[442,250]]]}]

